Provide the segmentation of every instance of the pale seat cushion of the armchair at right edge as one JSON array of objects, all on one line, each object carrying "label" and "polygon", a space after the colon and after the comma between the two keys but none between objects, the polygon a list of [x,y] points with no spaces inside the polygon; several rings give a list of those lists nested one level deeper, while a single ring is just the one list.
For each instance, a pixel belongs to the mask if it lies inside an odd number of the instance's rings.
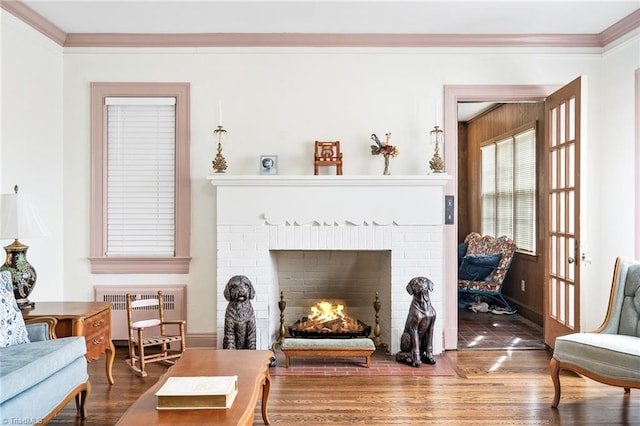
[{"label": "pale seat cushion of the armchair at right edge", "polygon": [[640,338],[573,333],[556,339],[553,357],[609,379],[640,380]]}]

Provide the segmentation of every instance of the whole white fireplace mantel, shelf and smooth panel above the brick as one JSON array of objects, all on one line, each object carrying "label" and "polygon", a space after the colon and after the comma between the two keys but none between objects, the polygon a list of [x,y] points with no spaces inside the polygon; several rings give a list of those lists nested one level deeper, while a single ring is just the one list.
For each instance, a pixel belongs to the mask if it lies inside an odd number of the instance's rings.
[{"label": "whole white fireplace mantel, shelf and smooth panel above the brick", "polygon": [[440,225],[450,176],[212,175],[209,180],[216,187],[218,225]]}]

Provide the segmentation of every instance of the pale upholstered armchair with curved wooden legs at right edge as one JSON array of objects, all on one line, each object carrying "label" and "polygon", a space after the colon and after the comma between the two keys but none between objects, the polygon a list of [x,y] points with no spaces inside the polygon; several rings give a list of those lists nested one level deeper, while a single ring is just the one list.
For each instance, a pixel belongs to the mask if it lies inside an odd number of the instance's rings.
[{"label": "pale upholstered armchair with curved wooden legs at right edge", "polygon": [[618,258],[604,323],[590,333],[556,339],[551,379],[560,402],[560,370],[570,370],[625,392],[640,388],[640,262]]}]

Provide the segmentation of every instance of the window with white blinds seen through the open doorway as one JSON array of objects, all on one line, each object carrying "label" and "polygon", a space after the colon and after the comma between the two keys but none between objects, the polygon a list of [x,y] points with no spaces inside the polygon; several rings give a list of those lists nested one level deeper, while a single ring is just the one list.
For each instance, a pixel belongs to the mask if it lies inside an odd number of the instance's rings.
[{"label": "window with white blinds seen through the open doorway", "polygon": [[482,233],[506,235],[536,252],[535,127],[480,148]]}]

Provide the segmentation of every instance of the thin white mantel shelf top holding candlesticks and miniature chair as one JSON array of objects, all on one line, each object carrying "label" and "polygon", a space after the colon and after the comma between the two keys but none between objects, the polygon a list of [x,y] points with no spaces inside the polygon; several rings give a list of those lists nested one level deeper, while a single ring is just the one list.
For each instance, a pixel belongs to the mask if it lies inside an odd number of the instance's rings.
[{"label": "thin white mantel shelf top holding candlesticks and miniature chair", "polygon": [[213,186],[444,186],[451,176],[432,175],[226,175],[207,177]]}]

